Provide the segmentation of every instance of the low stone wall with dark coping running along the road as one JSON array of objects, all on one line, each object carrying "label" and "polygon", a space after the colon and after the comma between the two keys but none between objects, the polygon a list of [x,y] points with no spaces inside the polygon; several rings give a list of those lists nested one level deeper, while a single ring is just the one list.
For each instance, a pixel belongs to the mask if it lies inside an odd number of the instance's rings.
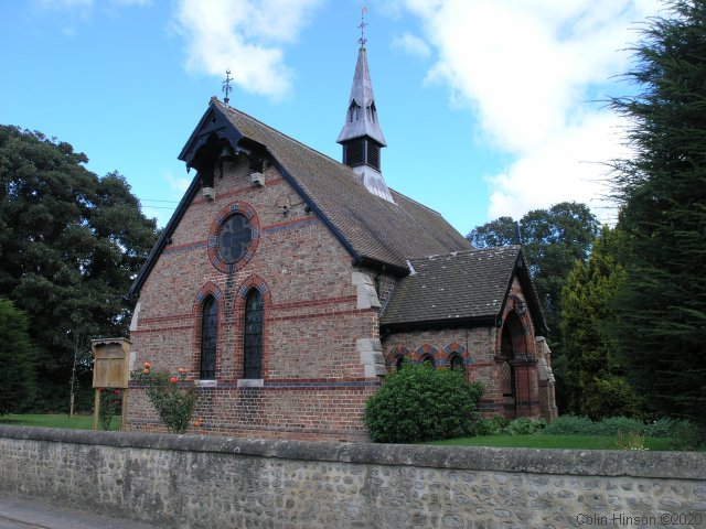
[{"label": "low stone wall with dark coping running along the road", "polygon": [[0,427],[0,490],[179,528],[706,527],[706,454]]}]

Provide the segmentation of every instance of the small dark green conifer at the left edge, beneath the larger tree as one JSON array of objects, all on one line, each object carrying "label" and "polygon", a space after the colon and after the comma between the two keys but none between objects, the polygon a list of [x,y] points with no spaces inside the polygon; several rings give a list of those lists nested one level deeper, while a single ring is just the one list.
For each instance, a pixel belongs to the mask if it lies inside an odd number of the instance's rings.
[{"label": "small dark green conifer at the left edge, beneath the larger tree", "polygon": [[36,349],[29,331],[29,316],[0,298],[0,415],[23,411],[34,397]]}]

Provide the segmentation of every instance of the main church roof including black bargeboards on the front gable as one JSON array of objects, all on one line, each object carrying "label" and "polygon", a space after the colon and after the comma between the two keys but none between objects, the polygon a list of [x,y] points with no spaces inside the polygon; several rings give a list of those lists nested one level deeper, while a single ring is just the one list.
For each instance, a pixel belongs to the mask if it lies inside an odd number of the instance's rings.
[{"label": "main church roof including black bargeboards on the front gable", "polygon": [[[245,138],[263,145],[284,177],[302,195],[354,260],[362,264],[385,264],[402,274],[407,270],[406,261],[409,258],[462,251],[471,247],[437,212],[394,190],[391,192],[396,204],[371,194],[347,165],[215,98],[182,150],[181,160],[189,163],[189,155],[193,155],[205,141],[204,130],[208,127],[217,130],[221,137],[236,140]],[[233,130],[225,130],[228,127]],[[128,298],[139,295],[149,272],[199,190],[196,175],[136,278]]]}]

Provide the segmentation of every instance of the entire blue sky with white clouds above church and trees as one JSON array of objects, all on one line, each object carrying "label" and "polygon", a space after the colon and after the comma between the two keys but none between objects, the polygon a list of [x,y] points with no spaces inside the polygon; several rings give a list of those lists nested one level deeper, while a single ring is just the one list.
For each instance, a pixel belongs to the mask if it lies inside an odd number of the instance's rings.
[{"label": "entire blue sky with white clouds above church and trees", "polygon": [[[370,0],[365,36],[387,184],[459,231],[561,201],[602,219],[602,162],[628,155],[601,100],[657,0]],[[360,0],[6,0],[0,122],[124,174],[164,225],[176,160],[221,91],[336,160]]]}]

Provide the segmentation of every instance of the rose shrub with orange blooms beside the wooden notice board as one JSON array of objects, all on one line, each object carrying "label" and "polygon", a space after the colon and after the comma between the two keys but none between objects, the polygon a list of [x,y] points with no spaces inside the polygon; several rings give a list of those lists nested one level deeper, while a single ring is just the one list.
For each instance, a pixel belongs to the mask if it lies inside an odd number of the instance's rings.
[{"label": "rose shrub with orange blooms beside the wooden notice board", "polygon": [[199,402],[193,386],[185,387],[186,369],[180,367],[179,376],[169,373],[153,373],[152,365],[145,363],[142,370],[132,371],[132,380],[145,388],[162,423],[172,433],[184,433]]}]

